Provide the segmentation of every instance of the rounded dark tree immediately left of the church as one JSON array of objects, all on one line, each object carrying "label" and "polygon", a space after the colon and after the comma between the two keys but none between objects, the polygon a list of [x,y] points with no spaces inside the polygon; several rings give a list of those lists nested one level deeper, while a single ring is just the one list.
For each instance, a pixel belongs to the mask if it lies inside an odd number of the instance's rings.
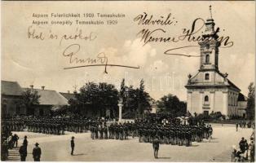
[{"label": "rounded dark tree immediately left of the church", "polygon": [[173,117],[185,116],[187,113],[187,104],[179,101],[176,95],[164,95],[157,101],[157,107],[160,108],[160,112],[169,113]]}]

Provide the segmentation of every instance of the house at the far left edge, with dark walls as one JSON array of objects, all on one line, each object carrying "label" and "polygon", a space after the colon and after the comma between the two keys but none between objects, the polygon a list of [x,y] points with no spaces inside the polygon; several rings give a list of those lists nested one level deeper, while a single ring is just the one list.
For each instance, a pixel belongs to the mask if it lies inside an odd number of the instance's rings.
[{"label": "house at the far left edge, with dark walls", "polygon": [[1,115],[9,117],[25,115],[22,105],[22,88],[16,81],[1,81]]}]

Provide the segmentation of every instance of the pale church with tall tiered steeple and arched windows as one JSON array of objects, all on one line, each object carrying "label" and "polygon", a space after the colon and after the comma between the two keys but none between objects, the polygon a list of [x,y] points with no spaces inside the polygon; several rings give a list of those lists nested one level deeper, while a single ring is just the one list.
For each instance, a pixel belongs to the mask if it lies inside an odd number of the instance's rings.
[{"label": "pale church with tall tiered steeple and arched windows", "polygon": [[[218,34],[214,29],[214,20],[211,14],[205,22],[205,32],[200,46],[200,65],[196,75],[188,75],[187,111],[194,114],[221,112],[223,115],[245,117],[245,100],[241,90],[232,81],[228,80],[227,73],[218,70]],[[243,98],[241,98],[243,97]],[[240,104],[241,103],[241,104]]]}]

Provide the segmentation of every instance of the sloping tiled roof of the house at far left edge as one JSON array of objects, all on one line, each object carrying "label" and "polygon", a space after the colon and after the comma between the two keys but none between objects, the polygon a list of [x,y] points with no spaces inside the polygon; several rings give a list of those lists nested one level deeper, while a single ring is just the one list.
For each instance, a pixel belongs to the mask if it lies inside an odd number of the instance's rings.
[{"label": "sloping tiled roof of the house at far left edge", "polygon": [[17,81],[1,81],[2,95],[21,95],[22,88]]}]

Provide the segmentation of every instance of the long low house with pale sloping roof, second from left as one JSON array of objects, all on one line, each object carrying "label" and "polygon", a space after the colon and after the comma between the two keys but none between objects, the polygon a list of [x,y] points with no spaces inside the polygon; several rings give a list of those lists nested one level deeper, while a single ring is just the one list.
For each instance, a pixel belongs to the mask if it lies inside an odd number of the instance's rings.
[{"label": "long low house with pale sloping roof, second from left", "polygon": [[[26,89],[33,88],[24,88],[24,90]],[[33,90],[37,90],[38,95],[40,95],[39,104],[34,106],[33,114],[35,116],[47,116],[51,114],[51,111],[68,106],[68,99],[55,90],[45,90],[44,86],[42,86],[42,89]]]}]

